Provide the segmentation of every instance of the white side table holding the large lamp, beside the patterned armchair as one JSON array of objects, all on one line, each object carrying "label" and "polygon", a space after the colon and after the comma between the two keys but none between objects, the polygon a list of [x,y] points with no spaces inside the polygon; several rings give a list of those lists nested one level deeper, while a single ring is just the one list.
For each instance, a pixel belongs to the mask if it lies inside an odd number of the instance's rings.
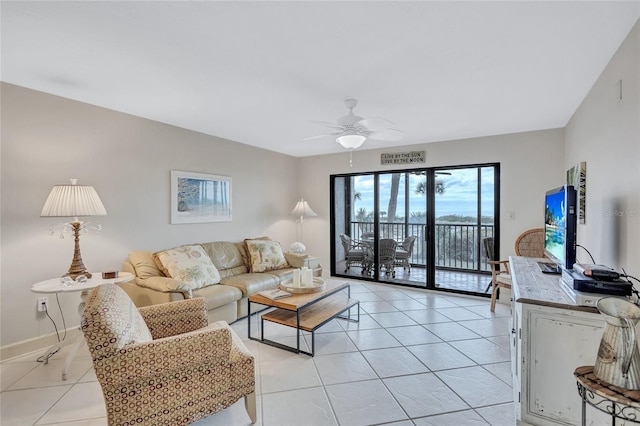
[{"label": "white side table holding the large lamp, beside the patterned armchair", "polygon": [[[73,293],[80,292],[80,304],[78,305],[78,313],[82,315],[84,311],[84,301],[89,294],[89,290],[94,287],[98,287],[102,284],[120,284],[126,283],[128,281],[133,280],[133,274],[130,272],[120,272],[118,273],[118,277],[103,279],[102,273],[100,272],[92,272],[92,277],[86,280],[85,282],[71,282],[70,284],[65,284],[60,278],[52,278],[46,281],[40,281],[39,283],[33,284],[31,286],[31,291],[33,293],[45,293],[45,294],[57,294],[57,293]],[[67,345],[68,343],[62,341],[57,342],[53,346],[51,346],[47,351],[43,354],[44,363],[47,364],[49,361],[50,354],[56,353],[58,350],[62,348],[62,346]],[[67,372],[69,371],[69,367],[71,366],[71,361],[75,358],[78,350],[84,344],[84,337],[82,333],[78,335],[78,338],[74,342],[74,346],[67,355],[65,360],[64,369],[62,370],[62,380],[67,380]]]}]

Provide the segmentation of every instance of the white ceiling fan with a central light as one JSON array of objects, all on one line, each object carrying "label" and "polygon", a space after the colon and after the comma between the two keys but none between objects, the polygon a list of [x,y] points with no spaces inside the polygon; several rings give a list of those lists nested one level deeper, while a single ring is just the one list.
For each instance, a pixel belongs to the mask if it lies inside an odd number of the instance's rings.
[{"label": "white ceiling fan with a central light", "polygon": [[375,139],[380,141],[396,141],[402,139],[404,132],[394,129],[392,122],[385,118],[372,117],[363,118],[353,113],[353,109],[358,105],[357,99],[345,99],[345,106],[349,113],[338,118],[336,123],[327,121],[312,121],[335,130],[333,133],[317,135],[305,138],[304,140],[324,138],[334,136],[336,142],[347,149],[360,147],[365,140]]}]

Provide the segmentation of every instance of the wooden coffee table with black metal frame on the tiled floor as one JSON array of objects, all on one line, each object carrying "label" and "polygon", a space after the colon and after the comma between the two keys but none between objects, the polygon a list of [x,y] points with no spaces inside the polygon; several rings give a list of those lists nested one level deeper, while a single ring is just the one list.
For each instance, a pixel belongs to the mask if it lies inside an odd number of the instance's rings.
[{"label": "wooden coffee table with black metal frame on the tiled floor", "polygon": [[[327,282],[325,289],[316,293],[293,294],[282,299],[272,300],[268,297],[254,294],[248,299],[247,326],[251,340],[275,346],[287,351],[314,356],[315,331],[334,318],[347,321],[360,321],[360,301],[351,298],[349,283]],[[260,338],[251,336],[251,304],[256,303],[276,308],[262,315],[260,323]],[[357,306],[356,319],[351,318],[351,308]],[[349,311],[347,316],[343,314]],[[264,322],[270,321],[296,329],[296,346],[287,346],[264,337]],[[311,333],[311,352],[300,349],[301,330]]]}]

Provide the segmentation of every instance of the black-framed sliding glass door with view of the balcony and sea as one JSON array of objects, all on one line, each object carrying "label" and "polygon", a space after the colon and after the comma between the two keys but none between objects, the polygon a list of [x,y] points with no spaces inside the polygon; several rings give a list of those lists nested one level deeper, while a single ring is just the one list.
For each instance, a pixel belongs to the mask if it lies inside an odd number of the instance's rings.
[{"label": "black-framed sliding glass door with view of the balcony and sea", "polygon": [[333,275],[489,294],[498,164],[335,175],[331,188]]}]

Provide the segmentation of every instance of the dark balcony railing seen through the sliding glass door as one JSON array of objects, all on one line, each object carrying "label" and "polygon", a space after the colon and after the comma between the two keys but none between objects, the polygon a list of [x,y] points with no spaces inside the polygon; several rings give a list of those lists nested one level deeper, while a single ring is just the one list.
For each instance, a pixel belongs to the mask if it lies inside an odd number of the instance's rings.
[{"label": "dark balcony railing seen through the sliding glass door", "polygon": [[[424,231],[424,224],[380,223],[380,238],[393,238],[401,242],[407,236],[416,236],[413,252],[409,259],[414,266],[427,265]],[[493,225],[436,223],[436,267],[465,271],[489,271],[482,240],[493,237],[493,231]],[[361,239],[364,233],[373,233],[373,222],[351,222],[352,238]]]}]

